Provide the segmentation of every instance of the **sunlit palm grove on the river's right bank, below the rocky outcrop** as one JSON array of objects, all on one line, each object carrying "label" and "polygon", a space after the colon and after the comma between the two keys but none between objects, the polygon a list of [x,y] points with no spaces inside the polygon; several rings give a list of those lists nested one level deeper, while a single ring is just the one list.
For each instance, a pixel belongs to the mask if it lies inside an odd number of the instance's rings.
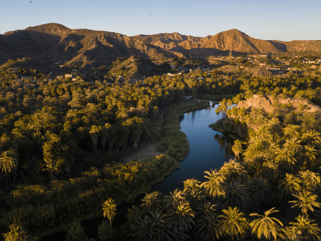
[{"label": "sunlit palm grove on the river's right bank, below the rocky outcrop", "polygon": [[204,183],[188,179],[169,196],[146,193],[126,225],[115,231],[103,222],[100,239],[320,240],[321,134],[261,109],[245,118],[253,122],[247,140],[234,141],[237,159],[205,171]]}]

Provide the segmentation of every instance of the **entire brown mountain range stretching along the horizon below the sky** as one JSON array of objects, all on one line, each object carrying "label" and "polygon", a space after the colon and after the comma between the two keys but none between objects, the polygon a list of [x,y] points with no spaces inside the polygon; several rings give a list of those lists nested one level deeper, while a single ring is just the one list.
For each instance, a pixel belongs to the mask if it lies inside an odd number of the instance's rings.
[{"label": "entire brown mountain range stretching along the horizon below the sky", "polygon": [[0,35],[0,64],[9,58],[31,57],[36,61],[57,61],[93,67],[117,57],[139,55],[155,60],[175,56],[278,54],[297,51],[318,53],[321,40],[259,40],[232,29],[204,38],[175,33],[128,37],[115,32],[69,29],[48,23]]}]

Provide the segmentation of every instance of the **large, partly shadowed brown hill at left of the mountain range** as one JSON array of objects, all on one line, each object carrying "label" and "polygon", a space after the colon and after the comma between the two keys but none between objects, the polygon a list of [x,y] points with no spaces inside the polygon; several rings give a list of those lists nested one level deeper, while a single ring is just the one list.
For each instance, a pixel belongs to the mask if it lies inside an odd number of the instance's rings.
[{"label": "large, partly shadowed brown hill at left of the mountain range", "polygon": [[139,55],[167,59],[176,55],[166,49],[126,35],[88,29],[69,29],[48,23],[0,35],[0,64],[8,59],[31,57],[85,67],[109,63],[117,57]]}]

